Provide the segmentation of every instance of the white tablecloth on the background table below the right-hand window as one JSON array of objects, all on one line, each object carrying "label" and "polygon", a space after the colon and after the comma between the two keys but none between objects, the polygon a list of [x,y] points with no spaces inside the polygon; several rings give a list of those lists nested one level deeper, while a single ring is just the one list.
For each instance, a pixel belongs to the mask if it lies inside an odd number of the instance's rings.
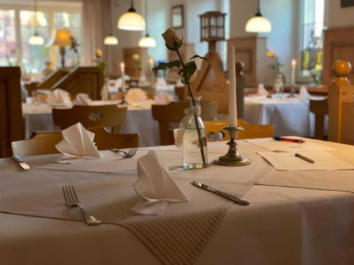
[{"label": "white tablecloth on the background table below the right-hand window", "polygon": [[[244,119],[250,124],[274,124],[276,136],[314,136],[314,114],[309,112],[309,101],[299,98],[246,96]],[[325,131],[327,128],[328,117]]]}]

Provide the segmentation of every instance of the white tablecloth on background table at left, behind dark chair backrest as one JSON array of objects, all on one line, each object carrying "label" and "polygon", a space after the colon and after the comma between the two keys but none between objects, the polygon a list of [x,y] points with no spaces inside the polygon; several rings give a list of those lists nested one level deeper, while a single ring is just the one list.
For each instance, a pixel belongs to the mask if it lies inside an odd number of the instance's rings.
[{"label": "white tablecloth on background table at left, behind dark chair backrest", "polygon": [[[154,100],[146,100],[139,104],[127,106],[127,116],[122,124],[120,133],[139,134],[139,146],[159,146],[159,123],[152,119],[151,106]],[[94,105],[103,104],[101,101],[94,101]],[[41,104],[22,104],[23,119],[25,126],[25,138],[33,131],[58,130],[52,119],[52,107]]]}]

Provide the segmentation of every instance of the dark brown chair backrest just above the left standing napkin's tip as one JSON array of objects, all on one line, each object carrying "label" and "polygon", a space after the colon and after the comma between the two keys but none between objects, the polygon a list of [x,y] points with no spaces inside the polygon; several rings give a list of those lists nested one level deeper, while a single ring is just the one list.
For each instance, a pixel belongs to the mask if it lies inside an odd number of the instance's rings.
[{"label": "dark brown chair backrest just above the left standing napkin's tip", "polygon": [[126,113],[126,107],[117,107],[117,105],[75,105],[71,109],[52,110],[53,121],[60,129],[66,129],[81,122],[85,128],[113,126],[116,128],[115,132],[119,132],[120,126],[125,121]]}]

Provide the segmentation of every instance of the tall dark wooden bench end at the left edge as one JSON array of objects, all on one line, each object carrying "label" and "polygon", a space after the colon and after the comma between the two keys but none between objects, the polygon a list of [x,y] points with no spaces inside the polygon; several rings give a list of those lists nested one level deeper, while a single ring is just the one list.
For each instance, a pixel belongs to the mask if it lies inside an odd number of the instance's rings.
[{"label": "tall dark wooden bench end at the left edge", "polygon": [[11,156],[11,141],[23,139],[21,70],[0,67],[0,158]]}]

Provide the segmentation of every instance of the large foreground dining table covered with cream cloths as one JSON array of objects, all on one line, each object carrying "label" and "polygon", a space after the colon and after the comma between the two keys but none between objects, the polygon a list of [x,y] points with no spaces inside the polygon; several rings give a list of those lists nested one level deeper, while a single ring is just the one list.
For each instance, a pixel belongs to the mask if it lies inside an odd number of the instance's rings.
[{"label": "large foreground dining table covered with cream cloths", "polygon": [[[354,146],[306,141],[354,166]],[[62,154],[21,158],[30,170],[1,159],[1,264],[353,264],[354,170],[276,170],[258,154],[269,150],[255,142],[238,141],[252,160],[241,167],[212,164],[227,145],[208,143],[209,164],[200,170],[183,170],[176,146],[138,148],[132,158],[100,151],[101,158],[71,164],[57,163]],[[188,202],[138,215],[137,162],[152,151]],[[86,225],[65,204],[63,185],[75,187],[101,225]]]}]

